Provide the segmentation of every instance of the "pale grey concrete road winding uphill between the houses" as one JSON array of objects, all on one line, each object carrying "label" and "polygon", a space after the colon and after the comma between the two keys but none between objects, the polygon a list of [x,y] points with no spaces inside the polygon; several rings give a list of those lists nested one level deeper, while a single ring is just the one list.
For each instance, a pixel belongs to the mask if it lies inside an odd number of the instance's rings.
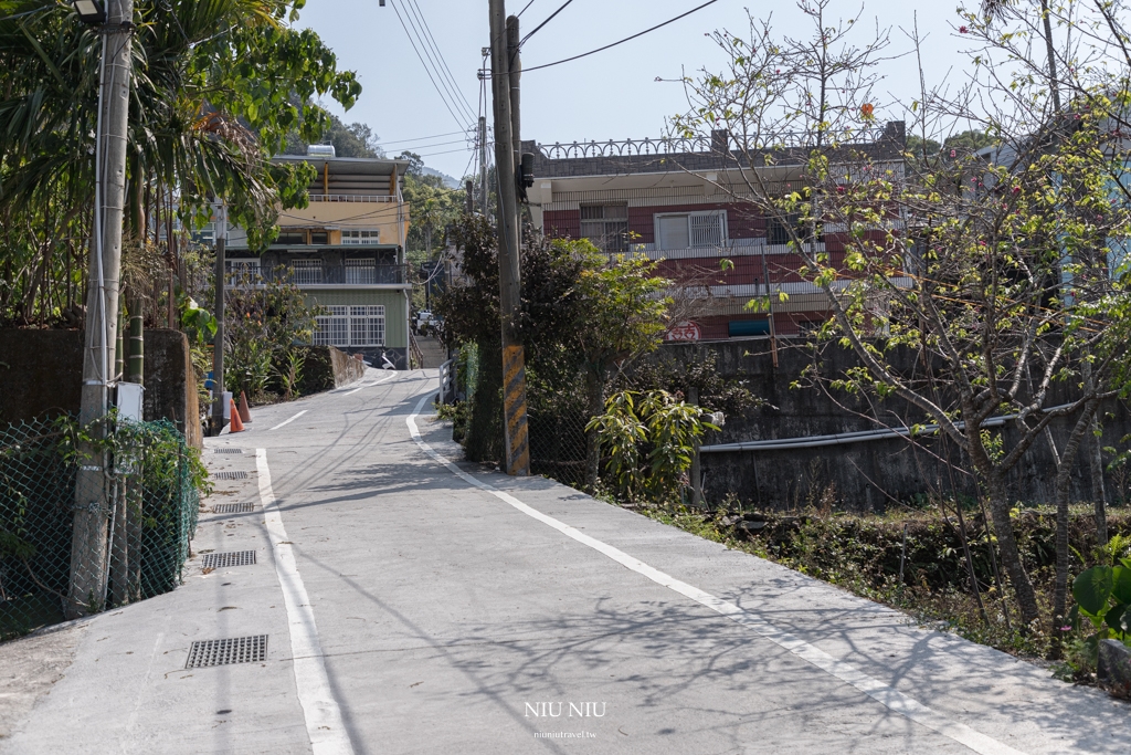
[{"label": "pale grey concrete road winding uphill between the houses", "polygon": [[[81,623],[0,750],[1129,753],[1129,709],[543,479],[454,464],[434,371],[262,409],[180,590]],[[242,453],[215,453],[239,449]],[[209,554],[254,564],[202,568]],[[193,642],[261,660],[185,668]],[[0,669],[0,675],[2,675]]]}]

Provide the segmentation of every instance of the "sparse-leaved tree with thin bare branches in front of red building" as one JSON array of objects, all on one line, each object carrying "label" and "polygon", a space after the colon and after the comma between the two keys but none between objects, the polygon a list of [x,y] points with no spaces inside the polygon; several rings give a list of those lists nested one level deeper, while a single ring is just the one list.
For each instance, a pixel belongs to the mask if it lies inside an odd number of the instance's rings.
[{"label": "sparse-leaved tree with thin bare branches in front of red building", "polygon": [[[808,41],[753,23],[746,38],[717,34],[727,68],[688,79],[692,106],[673,123],[733,136],[719,188],[785,230],[801,278],[827,301],[826,343],[857,357],[828,385],[904,400],[910,411],[898,422],[913,434],[936,426],[969,460],[1029,625],[1038,608],[1008,477],[1067,419],[1067,491],[1076,451],[1123,369],[1126,292],[1110,272],[1131,229],[1112,126],[1126,86],[1119,75],[1079,79],[1063,112],[1051,109],[1047,66],[1022,58],[1029,50],[1010,29],[972,16],[982,46],[969,86],[947,97],[924,84],[910,103],[923,154],[892,158],[901,128],[874,129],[887,36],[853,43],[856,19],[830,24],[827,6],[798,3],[813,19]],[[959,119],[994,146],[927,153]],[[897,351],[925,369],[901,371]],[[1057,391],[1070,401],[1056,403]],[[1064,512],[1067,524],[1067,503]]]}]

